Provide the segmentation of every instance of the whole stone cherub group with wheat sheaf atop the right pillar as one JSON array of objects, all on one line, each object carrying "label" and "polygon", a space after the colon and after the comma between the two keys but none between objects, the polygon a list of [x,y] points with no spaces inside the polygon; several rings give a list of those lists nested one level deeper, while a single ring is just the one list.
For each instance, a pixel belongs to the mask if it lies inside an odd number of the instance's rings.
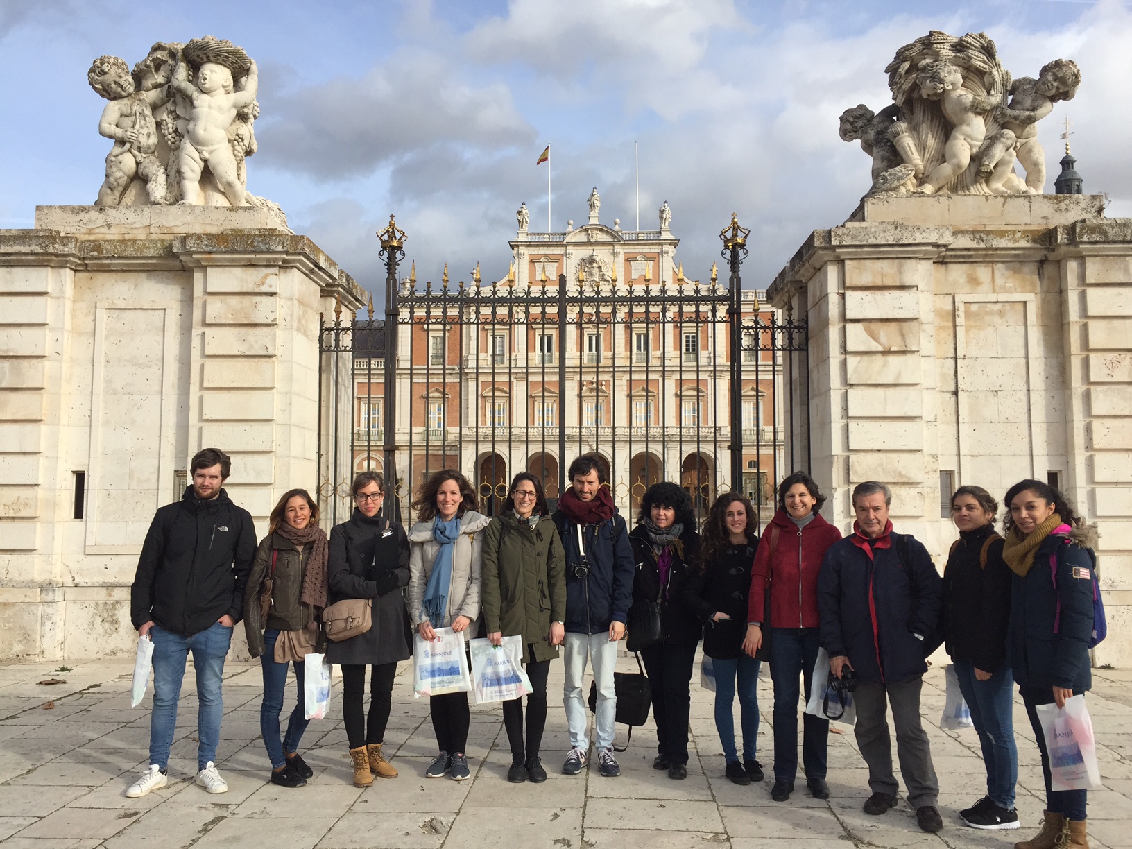
[{"label": "whole stone cherub group with wheat sheaf atop the right pillar", "polygon": [[1055,59],[1037,79],[1012,80],[984,33],[933,29],[898,50],[885,71],[893,103],[878,113],[859,104],[840,119],[841,138],[860,142],[873,160],[867,196],[1041,192],[1036,125],[1077,94],[1074,62]]}]

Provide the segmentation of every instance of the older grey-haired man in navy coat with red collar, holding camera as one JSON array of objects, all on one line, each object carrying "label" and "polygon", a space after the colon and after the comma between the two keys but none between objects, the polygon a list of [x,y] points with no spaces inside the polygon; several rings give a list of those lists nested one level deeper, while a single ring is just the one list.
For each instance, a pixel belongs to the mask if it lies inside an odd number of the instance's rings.
[{"label": "older grey-haired man in navy coat with red collar, holding camera", "polygon": [[851,669],[858,679],[855,734],[873,791],[865,813],[880,815],[897,804],[887,701],[908,801],[920,829],[935,832],[943,827],[936,808],[940,782],[920,724],[920,688],[925,658],[937,644],[933,635],[943,584],[927,549],[892,530],[891,504],[883,483],[867,481],[854,489],[854,532],[833,543],[817,578],[822,648],[834,676]]}]

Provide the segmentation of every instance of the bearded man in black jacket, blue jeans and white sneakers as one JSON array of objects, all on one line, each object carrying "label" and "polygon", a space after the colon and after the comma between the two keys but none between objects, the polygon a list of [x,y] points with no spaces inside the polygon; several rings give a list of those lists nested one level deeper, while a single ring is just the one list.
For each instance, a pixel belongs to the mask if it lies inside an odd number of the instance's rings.
[{"label": "bearded man in black jacket, blue jeans and white sneakers", "polygon": [[149,525],[130,588],[130,617],[153,641],[149,766],[126,795],[145,796],[168,783],[165,770],[177,726],[185,662],[197,675],[198,784],[222,794],[228,784],[213,763],[224,715],[221,683],[232,628],[243,615],[243,589],[256,554],[251,514],[222,489],[231,460],[218,448],[197,452],[192,486],[161,507]]}]

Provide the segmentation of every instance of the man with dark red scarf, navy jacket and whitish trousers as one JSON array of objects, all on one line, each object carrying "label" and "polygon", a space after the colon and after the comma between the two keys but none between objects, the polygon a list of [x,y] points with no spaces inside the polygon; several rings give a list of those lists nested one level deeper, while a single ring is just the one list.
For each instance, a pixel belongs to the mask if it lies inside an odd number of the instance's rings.
[{"label": "man with dark red scarf, navy jacket and whitish trousers", "polygon": [[583,454],[569,466],[571,488],[558,499],[555,525],[566,549],[566,684],[563,703],[571,751],[563,772],[576,775],[589,763],[582,676],[593,663],[598,703],[594,736],[598,770],[614,777],[621,767],[614,757],[617,694],[614,667],[617,641],[633,603],[633,547],[625,520],[617,514],[606,484],[601,457]]}]

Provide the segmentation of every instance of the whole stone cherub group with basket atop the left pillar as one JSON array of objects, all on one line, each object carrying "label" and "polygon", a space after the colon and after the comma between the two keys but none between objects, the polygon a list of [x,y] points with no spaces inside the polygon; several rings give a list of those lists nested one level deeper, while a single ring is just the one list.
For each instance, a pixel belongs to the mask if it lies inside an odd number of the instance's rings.
[{"label": "whole stone cherub group with basket atop the left pillar", "polygon": [[157,42],[127,69],[100,57],[87,74],[110,101],[98,131],[114,142],[97,206],[258,206],[283,217],[247,190],[259,104],[256,63],[242,48],[212,35]]}]

